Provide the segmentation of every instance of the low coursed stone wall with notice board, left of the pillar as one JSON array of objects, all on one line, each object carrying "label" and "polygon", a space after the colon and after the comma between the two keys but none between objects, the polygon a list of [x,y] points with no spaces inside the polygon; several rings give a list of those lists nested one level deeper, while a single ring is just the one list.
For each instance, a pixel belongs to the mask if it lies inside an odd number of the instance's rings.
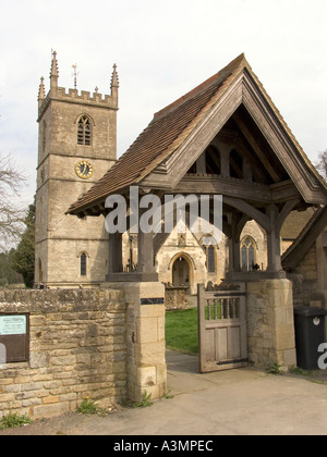
[{"label": "low coursed stone wall with notice board, left of the pillar", "polygon": [[0,417],[74,411],[126,397],[126,307],[119,291],[0,291],[0,313],[29,313],[29,361],[0,369]]}]

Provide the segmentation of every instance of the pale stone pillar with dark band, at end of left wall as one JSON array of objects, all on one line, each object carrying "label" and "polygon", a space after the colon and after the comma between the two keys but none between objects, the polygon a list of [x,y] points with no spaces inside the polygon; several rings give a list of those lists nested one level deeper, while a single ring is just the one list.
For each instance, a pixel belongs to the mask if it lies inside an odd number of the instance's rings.
[{"label": "pale stone pillar with dark band, at end of left wall", "polygon": [[144,392],[152,399],[167,392],[165,341],[165,286],[158,282],[110,283],[123,289],[128,306],[128,392],[140,402]]}]

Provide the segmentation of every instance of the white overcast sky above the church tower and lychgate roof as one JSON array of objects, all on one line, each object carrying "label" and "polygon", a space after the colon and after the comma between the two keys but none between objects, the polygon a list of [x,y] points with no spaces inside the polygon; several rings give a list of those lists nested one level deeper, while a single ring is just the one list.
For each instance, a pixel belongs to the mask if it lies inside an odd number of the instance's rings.
[{"label": "white overcast sky above the church tower and lychgate roof", "polygon": [[327,0],[0,0],[0,151],[26,168],[33,201],[37,94],[59,85],[110,94],[120,76],[118,155],[153,114],[241,52],[312,161],[327,149]]}]

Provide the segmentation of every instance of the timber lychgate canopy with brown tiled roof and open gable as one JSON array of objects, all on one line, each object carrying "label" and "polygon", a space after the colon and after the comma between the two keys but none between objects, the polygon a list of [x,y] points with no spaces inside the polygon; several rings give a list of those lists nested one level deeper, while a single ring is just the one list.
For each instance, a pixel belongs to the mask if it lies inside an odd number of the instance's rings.
[{"label": "timber lychgate canopy with brown tiled roof and open gable", "polygon": [[[327,202],[324,180],[244,54],[156,113],[116,165],[69,212],[106,215],[108,195],[128,195],[134,185],[162,201],[167,194],[221,195],[230,271],[240,269],[240,234],[253,219],[267,234],[268,272],[274,277],[282,271],[280,230],[288,214]],[[148,242],[140,236],[140,243],[146,247],[145,263],[154,272],[153,237],[144,237]]]}]

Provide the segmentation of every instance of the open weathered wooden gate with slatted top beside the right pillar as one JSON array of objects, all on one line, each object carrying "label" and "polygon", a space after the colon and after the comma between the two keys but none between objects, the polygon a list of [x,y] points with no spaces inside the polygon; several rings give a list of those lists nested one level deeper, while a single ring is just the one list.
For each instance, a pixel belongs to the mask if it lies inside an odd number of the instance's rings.
[{"label": "open weathered wooden gate with slatted top beside the right pillar", "polygon": [[247,366],[245,285],[239,291],[206,292],[198,285],[199,371]]}]

